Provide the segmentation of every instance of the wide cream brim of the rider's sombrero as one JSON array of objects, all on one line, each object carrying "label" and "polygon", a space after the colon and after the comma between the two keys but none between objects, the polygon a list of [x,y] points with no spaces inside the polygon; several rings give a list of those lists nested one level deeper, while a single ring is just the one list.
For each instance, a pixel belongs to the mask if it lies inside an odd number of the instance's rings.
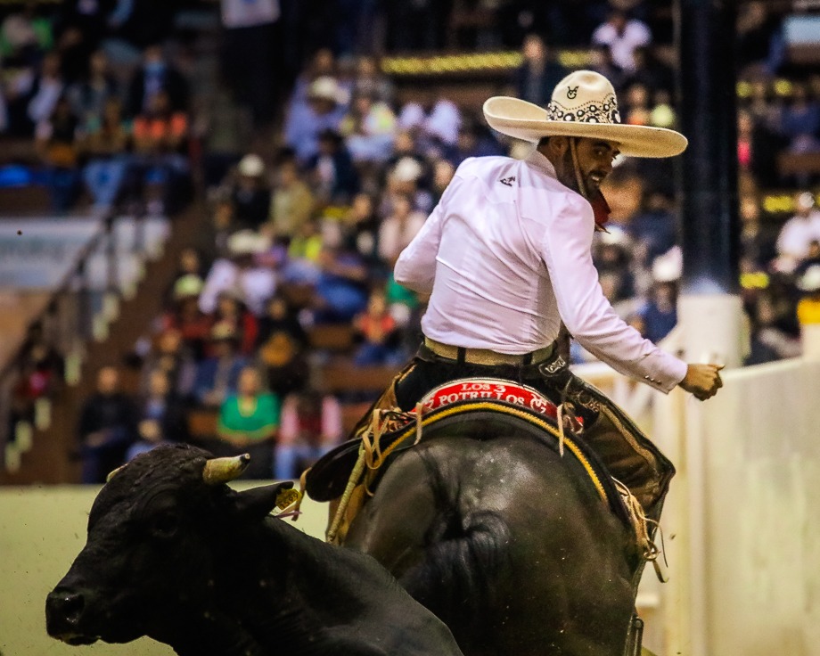
[{"label": "wide cream brim of the rider's sombrero", "polygon": [[484,118],[489,127],[516,139],[531,143],[545,136],[605,139],[618,143],[619,151],[629,157],[674,157],[689,143],[684,135],[666,127],[548,120],[543,107],[502,95],[484,102]]}]

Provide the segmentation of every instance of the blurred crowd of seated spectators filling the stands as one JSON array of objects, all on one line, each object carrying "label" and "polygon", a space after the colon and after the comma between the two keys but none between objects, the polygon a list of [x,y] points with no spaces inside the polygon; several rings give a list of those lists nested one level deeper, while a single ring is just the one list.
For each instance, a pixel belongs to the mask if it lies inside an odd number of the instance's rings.
[{"label": "blurred crowd of seated spectators filling the stands", "polygon": [[[521,65],[498,91],[545,105],[570,72],[559,54],[572,49],[584,53],[579,66],[611,79],[623,120],[676,126],[671,3],[328,0],[307,12],[288,0],[223,0],[222,75],[208,94],[169,3],[148,33],[126,29],[155,4],[78,0],[46,20],[29,3],[0,25],[0,129],[36,140],[55,209],[70,209],[85,185],[101,211],[172,213],[196,178],[209,211],[201,240],[179,258],[167,310],[135,347],[137,393],[121,391],[123,366],[105,367],[86,401],[86,482],[184,439],[225,455],[251,450],[254,475],[296,477],[345,437],[343,406],[363,400],[326,389],[322,366],[343,357],[351,372],[397,370],[412,355],[425,299],[393,280],[398,254],[462,160],[522,149],[446,86],[407,93],[382,72],[382,55],[518,49]],[[790,69],[782,25],[767,3],[740,9],[750,364],[799,354],[799,316],[820,315],[811,301],[820,302],[817,179],[777,166],[779,153],[820,151],[820,77]],[[783,75],[787,89],[775,84]],[[618,161],[603,188],[611,222],[594,244],[603,291],[653,341],[676,325],[673,166]],[[763,209],[764,194],[781,188],[799,189],[785,222]],[[348,331],[341,353],[312,338],[329,325]],[[41,365],[30,371],[59,367],[43,348],[32,348]],[[591,359],[575,344],[572,356]],[[33,412],[37,396],[23,387],[29,405],[21,400],[18,416]],[[193,416],[203,414],[214,426],[193,435]]]}]

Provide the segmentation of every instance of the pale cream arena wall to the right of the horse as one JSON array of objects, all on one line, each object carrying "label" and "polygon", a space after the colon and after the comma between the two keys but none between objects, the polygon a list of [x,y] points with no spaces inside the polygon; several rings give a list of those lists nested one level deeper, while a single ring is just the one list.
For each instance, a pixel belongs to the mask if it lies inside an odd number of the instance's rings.
[{"label": "pale cream arena wall to the right of the horse", "polygon": [[706,403],[654,399],[652,436],[677,476],[661,521],[670,580],[652,586],[659,639],[647,646],[820,656],[820,363],[723,378]]}]

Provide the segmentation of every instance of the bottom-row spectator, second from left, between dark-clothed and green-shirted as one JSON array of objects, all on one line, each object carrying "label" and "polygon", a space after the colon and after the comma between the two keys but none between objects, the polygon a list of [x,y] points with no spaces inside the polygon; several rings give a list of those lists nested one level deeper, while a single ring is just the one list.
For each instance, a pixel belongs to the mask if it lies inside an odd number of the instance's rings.
[{"label": "bottom-row spectator, second from left, between dark-clothed and green-shirted", "polygon": [[177,398],[168,381],[168,374],[161,369],[151,373],[148,389],[140,400],[137,410],[137,434],[126,454],[130,462],[137,455],[151,451],[163,444],[185,442],[188,424],[183,403]]}]

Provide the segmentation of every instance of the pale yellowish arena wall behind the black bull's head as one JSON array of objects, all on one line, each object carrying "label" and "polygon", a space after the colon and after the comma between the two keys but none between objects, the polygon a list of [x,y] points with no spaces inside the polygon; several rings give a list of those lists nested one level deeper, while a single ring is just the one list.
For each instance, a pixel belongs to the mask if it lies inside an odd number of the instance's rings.
[{"label": "pale yellowish arena wall behind the black bull's head", "polygon": [[[237,485],[255,487],[262,482]],[[70,647],[45,633],[45,595],[86,544],[86,521],[97,486],[0,488],[0,654],[81,656],[173,654],[149,638],[130,644]],[[326,504],[307,499],[292,526],[324,537]]]}]

